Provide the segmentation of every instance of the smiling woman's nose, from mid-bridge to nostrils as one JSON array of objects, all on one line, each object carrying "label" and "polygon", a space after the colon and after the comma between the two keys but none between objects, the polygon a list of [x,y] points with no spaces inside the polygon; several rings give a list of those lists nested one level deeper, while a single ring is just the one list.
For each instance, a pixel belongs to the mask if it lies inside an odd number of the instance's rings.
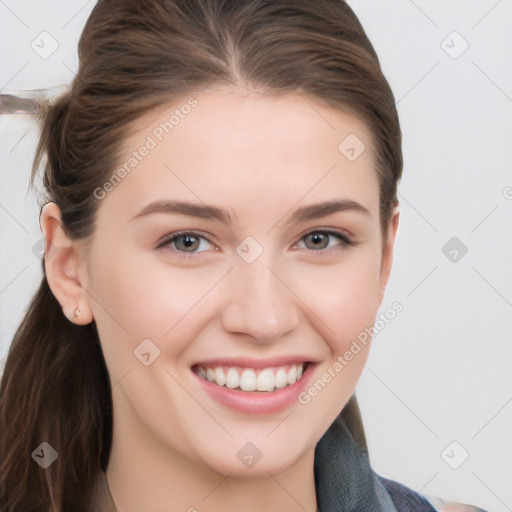
[{"label": "smiling woman's nose, from mid-bridge to nostrils", "polygon": [[297,328],[295,296],[266,259],[238,262],[229,279],[229,300],[222,312],[226,331],[249,335],[258,343],[272,343]]}]

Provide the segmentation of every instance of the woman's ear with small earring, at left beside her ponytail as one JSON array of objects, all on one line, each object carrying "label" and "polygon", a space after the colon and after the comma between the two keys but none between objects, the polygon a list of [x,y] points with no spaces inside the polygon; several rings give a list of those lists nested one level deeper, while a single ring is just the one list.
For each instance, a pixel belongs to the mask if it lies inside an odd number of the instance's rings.
[{"label": "woman's ear with small earring, at left beside her ponytail", "polygon": [[92,310],[87,292],[81,285],[80,245],[66,235],[56,203],[44,205],[39,223],[45,242],[45,273],[53,295],[71,322],[78,325],[91,323]]}]

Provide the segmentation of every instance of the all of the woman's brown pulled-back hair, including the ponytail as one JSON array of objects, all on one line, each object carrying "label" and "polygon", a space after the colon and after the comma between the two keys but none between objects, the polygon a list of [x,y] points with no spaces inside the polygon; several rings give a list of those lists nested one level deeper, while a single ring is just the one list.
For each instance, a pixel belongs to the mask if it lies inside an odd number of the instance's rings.
[{"label": "all of the woman's brown pulled-back hair, including the ponytail", "polygon": [[[70,90],[41,114],[31,180],[44,161],[46,199],[72,239],[94,232],[93,191],[116,168],[129,123],[212,84],[300,93],[365,122],[386,234],[401,131],[377,55],[344,1],[100,0],[78,51]],[[355,396],[342,414],[366,448]],[[1,379],[0,432],[3,512],[87,510],[112,441],[109,375],[94,321],[66,319],[44,261]],[[58,453],[44,470],[31,457],[43,441]]]}]

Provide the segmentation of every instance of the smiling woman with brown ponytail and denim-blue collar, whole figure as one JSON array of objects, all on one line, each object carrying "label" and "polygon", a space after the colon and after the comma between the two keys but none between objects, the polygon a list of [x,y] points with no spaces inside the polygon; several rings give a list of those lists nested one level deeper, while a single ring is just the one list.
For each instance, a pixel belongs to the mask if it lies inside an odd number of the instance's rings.
[{"label": "smiling woman with brown ponytail and denim-blue collar, whole figure", "polygon": [[1,510],[434,511],[371,469],[354,395],[402,154],[348,5],[100,0],[79,56],[42,115]]}]

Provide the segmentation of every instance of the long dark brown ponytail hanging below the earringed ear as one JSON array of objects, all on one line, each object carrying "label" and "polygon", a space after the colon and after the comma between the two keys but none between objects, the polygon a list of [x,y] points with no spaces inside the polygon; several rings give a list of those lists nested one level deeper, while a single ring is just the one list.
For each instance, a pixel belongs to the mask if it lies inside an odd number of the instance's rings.
[{"label": "long dark brown ponytail hanging below the earringed ear", "polygon": [[[110,380],[94,322],[67,320],[46,275],[8,353],[0,432],[2,512],[85,512],[109,457]],[[44,442],[57,452],[46,469]]]}]

